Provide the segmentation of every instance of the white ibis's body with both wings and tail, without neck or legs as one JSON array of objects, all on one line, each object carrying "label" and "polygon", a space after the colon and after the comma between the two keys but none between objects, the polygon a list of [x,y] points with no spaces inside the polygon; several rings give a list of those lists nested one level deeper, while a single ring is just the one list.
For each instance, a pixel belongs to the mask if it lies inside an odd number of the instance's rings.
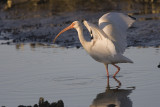
[{"label": "white ibis's body with both wings and tail, without neck or legs", "polygon": [[[93,36],[87,52],[97,61],[105,64],[132,62],[123,56],[126,48],[126,30],[134,22],[122,13],[107,13],[99,19],[99,27],[84,21]],[[85,47],[84,47],[85,48]]]}]

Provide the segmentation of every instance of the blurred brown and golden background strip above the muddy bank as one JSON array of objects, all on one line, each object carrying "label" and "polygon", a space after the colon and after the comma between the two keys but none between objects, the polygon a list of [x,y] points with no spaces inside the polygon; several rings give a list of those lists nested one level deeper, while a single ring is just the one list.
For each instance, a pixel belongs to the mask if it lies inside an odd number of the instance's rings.
[{"label": "blurred brown and golden background strip above the muddy bank", "polygon": [[0,0],[0,11],[15,18],[48,17],[64,12],[131,11],[160,13],[160,0]]}]

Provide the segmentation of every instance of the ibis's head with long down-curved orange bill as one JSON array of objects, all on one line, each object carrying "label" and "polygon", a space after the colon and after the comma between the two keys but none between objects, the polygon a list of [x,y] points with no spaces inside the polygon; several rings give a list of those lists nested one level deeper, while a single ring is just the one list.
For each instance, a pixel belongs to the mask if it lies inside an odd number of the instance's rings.
[{"label": "ibis's head with long down-curved orange bill", "polygon": [[54,38],[53,43],[55,43],[56,39],[58,38],[58,36],[60,36],[60,34],[62,34],[63,32],[69,30],[69,29],[77,29],[80,26],[80,22],[79,21],[74,21],[71,25],[69,25],[68,27],[64,28],[61,32],[58,33],[58,35]]}]

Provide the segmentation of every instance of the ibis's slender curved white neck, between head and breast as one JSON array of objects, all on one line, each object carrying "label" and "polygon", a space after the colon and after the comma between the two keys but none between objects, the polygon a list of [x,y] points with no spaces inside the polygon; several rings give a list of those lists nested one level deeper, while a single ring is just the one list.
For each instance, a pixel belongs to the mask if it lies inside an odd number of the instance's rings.
[{"label": "ibis's slender curved white neck, between head and breast", "polygon": [[84,38],[82,26],[78,27],[76,30],[77,30],[77,32],[78,32],[78,37],[79,37],[79,40],[80,40],[83,48],[84,48],[85,50],[87,50],[87,49],[88,49],[88,48],[87,48],[88,42],[87,42],[86,39]]}]

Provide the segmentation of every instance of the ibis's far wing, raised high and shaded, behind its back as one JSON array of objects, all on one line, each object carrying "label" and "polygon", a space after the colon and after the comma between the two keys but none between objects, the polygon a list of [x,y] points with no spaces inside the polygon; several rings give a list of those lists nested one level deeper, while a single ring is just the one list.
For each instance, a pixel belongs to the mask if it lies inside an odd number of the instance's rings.
[{"label": "ibis's far wing, raised high and shaded, behind its back", "polygon": [[99,28],[102,29],[107,38],[114,43],[117,53],[122,54],[125,51],[127,46],[126,30],[133,24],[134,21],[135,18],[117,12],[104,14],[99,19]]}]

